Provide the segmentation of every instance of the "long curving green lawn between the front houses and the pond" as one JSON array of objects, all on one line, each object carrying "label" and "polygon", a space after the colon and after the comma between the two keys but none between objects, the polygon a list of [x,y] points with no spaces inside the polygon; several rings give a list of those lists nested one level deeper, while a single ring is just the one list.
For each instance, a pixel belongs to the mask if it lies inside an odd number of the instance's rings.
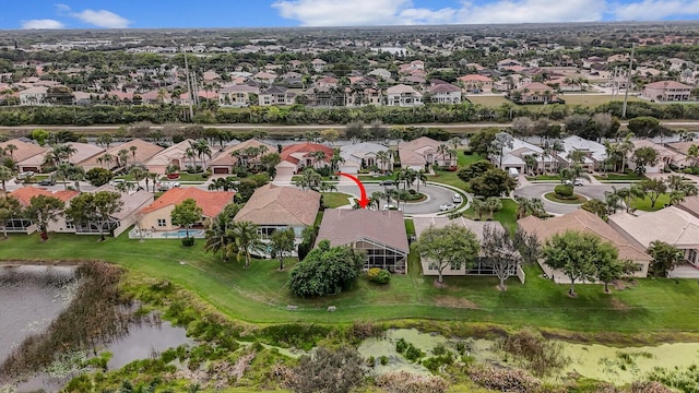
[{"label": "long curving green lawn between the front houses and the pond", "polygon": [[[510,205],[508,202],[507,205]],[[506,206],[507,206],[506,205]],[[509,209],[508,209],[509,210]],[[513,216],[513,212],[509,212]],[[276,260],[256,260],[249,269],[223,262],[203,252],[203,240],[183,248],[177,240],[140,242],[122,236],[98,242],[96,237],[11,235],[2,241],[2,260],[105,260],[134,275],[166,279],[192,291],[232,319],[254,323],[351,323],[357,320],[443,320],[495,323],[518,329],[525,325],[571,331],[653,333],[697,331],[699,286],[691,279],[636,279],[624,290],[604,294],[601,285],[576,285],[577,298],[567,285],[541,277],[537,266],[525,267],[526,284],[510,278],[507,291],[496,289],[495,277],[446,277],[446,286],[422,275],[419,259],[411,253],[407,276],[393,275],[386,286],[359,279],[348,293],[321,299],[297,299],[285,287],[294,261],[279,270]],[[288,311],[287,305],[298,306]],[[336,312],[328,312],[336,306]],[[641,340],[637,334],[635,340]]]}]

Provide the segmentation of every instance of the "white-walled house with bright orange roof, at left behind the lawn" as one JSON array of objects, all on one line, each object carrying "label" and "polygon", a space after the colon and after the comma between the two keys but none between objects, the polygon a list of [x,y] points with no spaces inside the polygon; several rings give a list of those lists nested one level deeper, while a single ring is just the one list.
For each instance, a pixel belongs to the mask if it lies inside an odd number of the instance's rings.
[{"label": "white-walled house with bright orange roof, at left behind the lawn", "polygon": [[196,187],[173,188],[165,191],[158,199],[139,210],[139,227],[143,230],[174,230],[179,226],[173,224],[170,214],[175,205],[188,199],[193,199],[202,210],[201,219],[196,226],[206,225],[213,217],[230,202],[235,192],[204,191]]}]

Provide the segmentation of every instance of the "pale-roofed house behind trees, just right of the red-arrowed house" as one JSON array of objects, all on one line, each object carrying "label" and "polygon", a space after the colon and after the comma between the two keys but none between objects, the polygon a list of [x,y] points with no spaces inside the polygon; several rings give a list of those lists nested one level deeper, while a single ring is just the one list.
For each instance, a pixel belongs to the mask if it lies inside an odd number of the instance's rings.
[{"label": "pale-roofed house behind trees, just right of the red-arrowed house", "polygon": [[[413,223],[415,224],[415,235],[417,238],[430,226],[436,228],[443,228],[449,224],[455,224],[466,229],[470,229],[476,235],[478,241],[483,241],[483,230],[486,225],[489,225],[494,229],[505,230],[502,224],[498,222],[476,222],[473,219],[467,219],[464,217],[459,217],[454,219],[449,219],[449,217],[440,216],[440,217],[413,217]],[[482,258],[483,255],[478,255],[475,258],[473,267],[466,269],[465,263],[461,263],[459,269],[454,269],[455,266],[447,266],[442,271],[442,275],[494,275],[493,269],[485,263]],[[420,264],[423,266],[423,275],[436,276],[439,275],[439,266],[434,262],[426,258],[420,257]],[[514,266],[510,272],[511,275],[516,275],[520,278],[522,283],[524,283],[524,272],[522,272],[521,266]]]}]

